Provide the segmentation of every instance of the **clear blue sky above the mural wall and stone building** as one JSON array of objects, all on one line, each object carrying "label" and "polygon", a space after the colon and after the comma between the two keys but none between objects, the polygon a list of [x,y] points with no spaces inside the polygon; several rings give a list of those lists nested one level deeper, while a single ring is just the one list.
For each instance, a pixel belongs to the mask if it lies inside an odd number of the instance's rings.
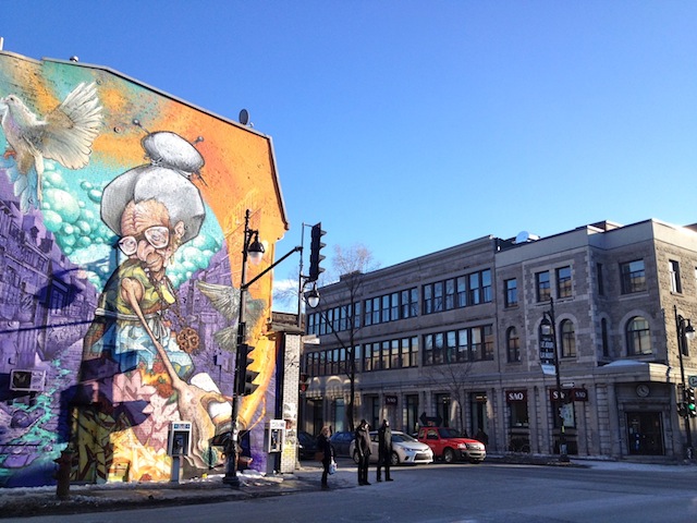
[{"label": "clear blue sky above the mural wall and stone building", "polygon": [[246,108],[273,138],[280,254],[303,222],[322,222],[329,258],[363,243],[383,267],[487,234],[697,222],[695,1],[0,9],[4,50],[76,54],[235,120]]}]

